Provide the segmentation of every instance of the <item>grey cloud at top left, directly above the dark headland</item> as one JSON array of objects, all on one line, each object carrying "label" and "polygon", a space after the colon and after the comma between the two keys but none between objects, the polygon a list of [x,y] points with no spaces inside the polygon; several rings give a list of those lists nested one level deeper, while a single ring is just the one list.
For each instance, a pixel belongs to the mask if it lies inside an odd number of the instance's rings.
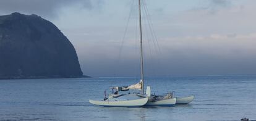
[{"label": "grey cloud at top left, directly above the dark headland", "polygon": [[38,14],[44,17],[58,16],[58,10],[62,7],[82,5],[82,9],[91,10],[100,6],[103,0],[1,0],[0,14],[22,12],[24,14]]}]

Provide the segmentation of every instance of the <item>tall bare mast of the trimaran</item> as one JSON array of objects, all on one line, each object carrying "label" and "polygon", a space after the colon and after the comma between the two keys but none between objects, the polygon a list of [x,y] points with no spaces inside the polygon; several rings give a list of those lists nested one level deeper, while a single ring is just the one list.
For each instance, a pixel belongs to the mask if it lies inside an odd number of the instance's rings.
[{"label": "tall bare mast of the trimaran", "polygon": [[142,13],[140,10],[139,0],[139,25],[140,25],[140,63],[141,63],[141,80],[142,80],[142,94],[144,94],[144,75],[143,75],[143,49],[142,49]]}]

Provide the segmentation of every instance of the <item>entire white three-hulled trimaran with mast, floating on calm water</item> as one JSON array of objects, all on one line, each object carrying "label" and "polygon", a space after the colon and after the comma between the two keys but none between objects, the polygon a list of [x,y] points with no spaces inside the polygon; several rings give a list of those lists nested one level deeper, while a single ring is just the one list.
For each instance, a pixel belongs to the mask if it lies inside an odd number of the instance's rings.
[{"label": "entire white three-hulled trimaran with mast, floating on calm water", "polygon": [[[142,15],[141,15],[141,0],[139,1],[139,35],[140,35],[140,69],[141,79],[135,85],[114,87],[115,93],[109,94],[108,98],[103,101],[89,100],[90,103],[105,106],[105,107],[141,107],[141,106],[174,106],[174,104],[187,104],[194,99],[194,96],[187,98],[174,98],[173,94],[169,93],[166,96],[156,96],[151,94],[150,86],[147,86],[146,93],[144,92],[144,75],[143,75],[143,44],[142,44]],[[142,93],[118,94],[118,91],[127,90],[142,90]]]}]

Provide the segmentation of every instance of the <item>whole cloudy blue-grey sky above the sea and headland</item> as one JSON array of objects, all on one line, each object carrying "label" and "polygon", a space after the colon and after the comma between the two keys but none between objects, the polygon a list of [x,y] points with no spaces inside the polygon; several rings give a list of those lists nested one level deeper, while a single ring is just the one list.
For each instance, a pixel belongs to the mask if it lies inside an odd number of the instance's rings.
[{"label": "whole cloudy blue-grey sky above the sea and headland", "polygon": [[[256,74],[256,1],[142,4],[146,76]],[[12,12],[53,22],[74,45],[84,75],[140,75],[137,0],[1,0],[0,15]]]}]

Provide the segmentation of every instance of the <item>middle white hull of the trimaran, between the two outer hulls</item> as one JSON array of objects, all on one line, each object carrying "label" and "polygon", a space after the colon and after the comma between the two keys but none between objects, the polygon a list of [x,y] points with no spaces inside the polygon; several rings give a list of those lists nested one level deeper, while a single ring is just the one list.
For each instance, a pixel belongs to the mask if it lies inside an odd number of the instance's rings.
[{"label": "middle white hull of the trimaran, between the two outer hulls", "polygon": [[148,101],[145,106],[174,106],[176,104],[176,98],[163,99],[160,101]]}]

